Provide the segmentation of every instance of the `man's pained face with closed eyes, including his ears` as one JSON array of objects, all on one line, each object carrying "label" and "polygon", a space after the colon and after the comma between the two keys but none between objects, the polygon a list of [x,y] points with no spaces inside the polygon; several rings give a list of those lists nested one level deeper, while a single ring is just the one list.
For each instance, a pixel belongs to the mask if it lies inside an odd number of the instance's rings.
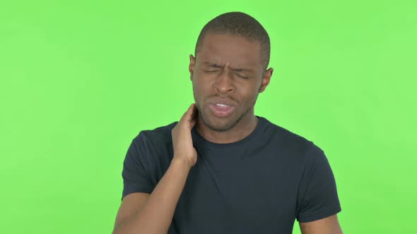
[{"label": "man's pained face with closed eyes, including his ears", "polygon": [[251,120],[259,92],[269,84],[260,42],[240,35],[206,34],[189,71],[199,119],[211,130],[226,131]]}]

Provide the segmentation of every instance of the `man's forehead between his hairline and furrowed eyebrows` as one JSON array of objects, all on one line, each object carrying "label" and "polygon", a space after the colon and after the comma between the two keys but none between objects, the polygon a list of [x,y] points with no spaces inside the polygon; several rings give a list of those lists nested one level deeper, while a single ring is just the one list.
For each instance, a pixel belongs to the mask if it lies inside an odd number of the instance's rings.
[{"label": "man's forehead between his hairline and furrowed eyebrows", "polygon": [[197,61],[229,64],[233,67],[262,66],[261,45],[257,40],[248,40],[240,35],[205,35]]}]

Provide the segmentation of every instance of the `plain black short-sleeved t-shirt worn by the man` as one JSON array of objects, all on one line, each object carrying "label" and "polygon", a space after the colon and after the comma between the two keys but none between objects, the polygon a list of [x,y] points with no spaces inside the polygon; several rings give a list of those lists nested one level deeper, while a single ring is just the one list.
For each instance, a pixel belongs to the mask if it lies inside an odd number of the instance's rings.
[{"label": "plain black short-sleeved t-shirt worn by the man", "polygon": [[[218,144],[192,129],[197,162],[189,171],[169,234],[292,233],[295,219],[341,211],[327,157],[313,142],[260,117],[242,140]],[[122,199],[151,193],[173,157],[177,122],[143,130],[124,159]]]}]

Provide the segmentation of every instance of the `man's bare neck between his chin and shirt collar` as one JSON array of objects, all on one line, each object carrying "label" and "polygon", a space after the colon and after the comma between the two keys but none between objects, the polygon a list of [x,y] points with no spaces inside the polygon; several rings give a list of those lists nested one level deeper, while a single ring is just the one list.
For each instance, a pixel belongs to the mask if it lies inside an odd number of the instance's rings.
[{"label": "man's bare neck between his chin and shirt collar", "polygon": [[219,132],[207,127],[204,123],[202,123],[201,118],[198,118],[196,130],[201,137],[204,137],[204,139],[210,142],[226,144],[237,142],[247,137],[257,127],[258,122],[259,118],[254,116],[252,113],[252,115],[248,115],[246,118],[241,118],[240,121],[233,126],[233,128]]}]

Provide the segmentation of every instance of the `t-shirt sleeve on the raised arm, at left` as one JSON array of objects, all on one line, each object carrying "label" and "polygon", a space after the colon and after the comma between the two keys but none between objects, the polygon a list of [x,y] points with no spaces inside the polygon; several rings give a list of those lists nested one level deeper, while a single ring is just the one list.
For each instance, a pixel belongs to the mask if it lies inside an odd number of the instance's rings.
[{"label": "t-shirt sleeve on the raised arm, at left", "polygon": [[154,185],[151,182],[145,137],[142,133],[135,137],[124,158],[122,199],[132,192],[146,192],[150,194],[153,191]]}]

